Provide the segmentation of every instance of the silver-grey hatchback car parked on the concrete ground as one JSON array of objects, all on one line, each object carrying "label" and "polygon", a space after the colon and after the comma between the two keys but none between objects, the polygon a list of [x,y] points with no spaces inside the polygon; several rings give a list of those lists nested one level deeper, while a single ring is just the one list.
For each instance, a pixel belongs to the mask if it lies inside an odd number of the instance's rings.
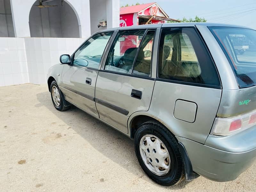
[{"label": "silver-grey hatchback car parked on the concrete ground", "polygon": [[256,157],[256,31],[212,23],[107,29],[48,72],[56,109],[84,110],[134,140],[170,186],[230,181]]}]

